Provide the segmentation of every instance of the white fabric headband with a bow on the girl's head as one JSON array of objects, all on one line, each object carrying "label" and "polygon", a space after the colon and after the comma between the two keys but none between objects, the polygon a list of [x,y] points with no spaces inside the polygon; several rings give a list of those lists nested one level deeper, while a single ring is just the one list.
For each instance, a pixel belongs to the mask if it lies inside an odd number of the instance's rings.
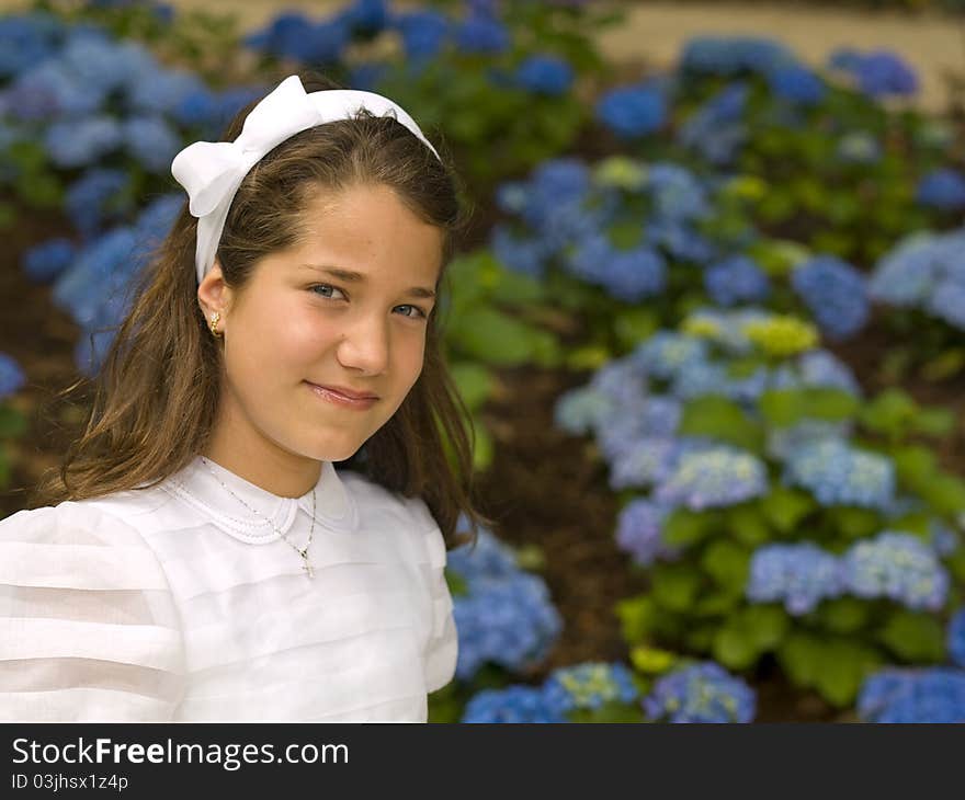
[{"label": "white fabric headband with a bow on the girl's head", "polygon": [[388,98],[353,89],[306,94],[296,75],[285,78],[251,110],[235,141],[195,141],[174,157],[171,174],[186,190],[191,198],[188,207],[191,215],[197,217],[198,284],[215,262],[228,209],[249,170],[288,137],[316,125],[350,119],[363,107],[375,116],[394,112],[395,119],[439,158],[412,117]]}]

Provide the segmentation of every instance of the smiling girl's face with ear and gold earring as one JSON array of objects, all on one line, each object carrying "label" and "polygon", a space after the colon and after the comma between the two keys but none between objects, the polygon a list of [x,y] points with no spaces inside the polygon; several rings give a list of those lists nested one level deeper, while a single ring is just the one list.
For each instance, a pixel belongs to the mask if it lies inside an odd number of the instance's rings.
[{"label": "smiling girl's face with ear and gold earring", "polygon": [[[224,285],[217,262],[198,287],[208,319],[222,310],[225,384],[212,448],[222,464],[344,460],[422,370],[442,231],[386,186],[322,199],[306,210],[303,243],[262,259],[243,292]],[[311,384],[378,399],[347,408]]]}]

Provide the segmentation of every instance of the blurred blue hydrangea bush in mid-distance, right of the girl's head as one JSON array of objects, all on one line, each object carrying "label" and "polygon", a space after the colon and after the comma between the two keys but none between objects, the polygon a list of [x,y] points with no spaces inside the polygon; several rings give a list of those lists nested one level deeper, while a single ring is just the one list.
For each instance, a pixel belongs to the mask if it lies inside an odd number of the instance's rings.
[{"label": "blurred blue hydrangea bush in mid-distance, right of the girl's head", "polygon": [[[507,218],[489,243],[560,305],[600,320],[604,333],[590,335],[604,347],[636,342],[707,299],[804,311],[832,340],[860,331],[870,316],[862,273],[742,222],[760,191],[759,183],[701,178],[673,162],[554,159],[525,181],[500,185],[497,203]],[[658,297],[671,301],[647,304]]]}]

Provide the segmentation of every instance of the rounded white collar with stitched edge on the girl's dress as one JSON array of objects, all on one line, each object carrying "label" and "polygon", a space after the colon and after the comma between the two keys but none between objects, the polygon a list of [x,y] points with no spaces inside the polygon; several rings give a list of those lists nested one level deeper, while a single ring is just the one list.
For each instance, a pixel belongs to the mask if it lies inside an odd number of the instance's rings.
[{"label": "rounded white collar with stitched edge on the girl's dress", "polygon": [[[295,525],[298,508],[305,512],[305,519],[299,523],[299,527],[308,526],[311,519],[311,490],[300,498],[281,498],[209,458],[202,460],[202,456],[195,456],[191,464],[171,476],[163,485],[171,494],[203,513],[222,530],[248,544],[274,541],[280,538],[279,530],[287,534]],[[225,487],[258,514],[245,507],[237,498],[225,491]],[[331,461],[321,462],[315,493],[317,525],[334,530],[355,529],[357,510],[354,500]]]}]

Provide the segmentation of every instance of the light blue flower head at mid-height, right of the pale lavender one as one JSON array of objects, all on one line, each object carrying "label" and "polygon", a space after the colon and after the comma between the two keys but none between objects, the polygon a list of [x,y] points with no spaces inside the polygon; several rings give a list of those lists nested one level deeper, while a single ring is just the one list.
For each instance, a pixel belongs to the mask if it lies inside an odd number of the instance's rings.
[{"label": "light blue flower head at mid-height, right of the pale lavender one", "polygon": [[895,494],[895,465],[886,456],[822,439],[791,454],[784,482],[807,489],[825,506],[886,511]]}]

